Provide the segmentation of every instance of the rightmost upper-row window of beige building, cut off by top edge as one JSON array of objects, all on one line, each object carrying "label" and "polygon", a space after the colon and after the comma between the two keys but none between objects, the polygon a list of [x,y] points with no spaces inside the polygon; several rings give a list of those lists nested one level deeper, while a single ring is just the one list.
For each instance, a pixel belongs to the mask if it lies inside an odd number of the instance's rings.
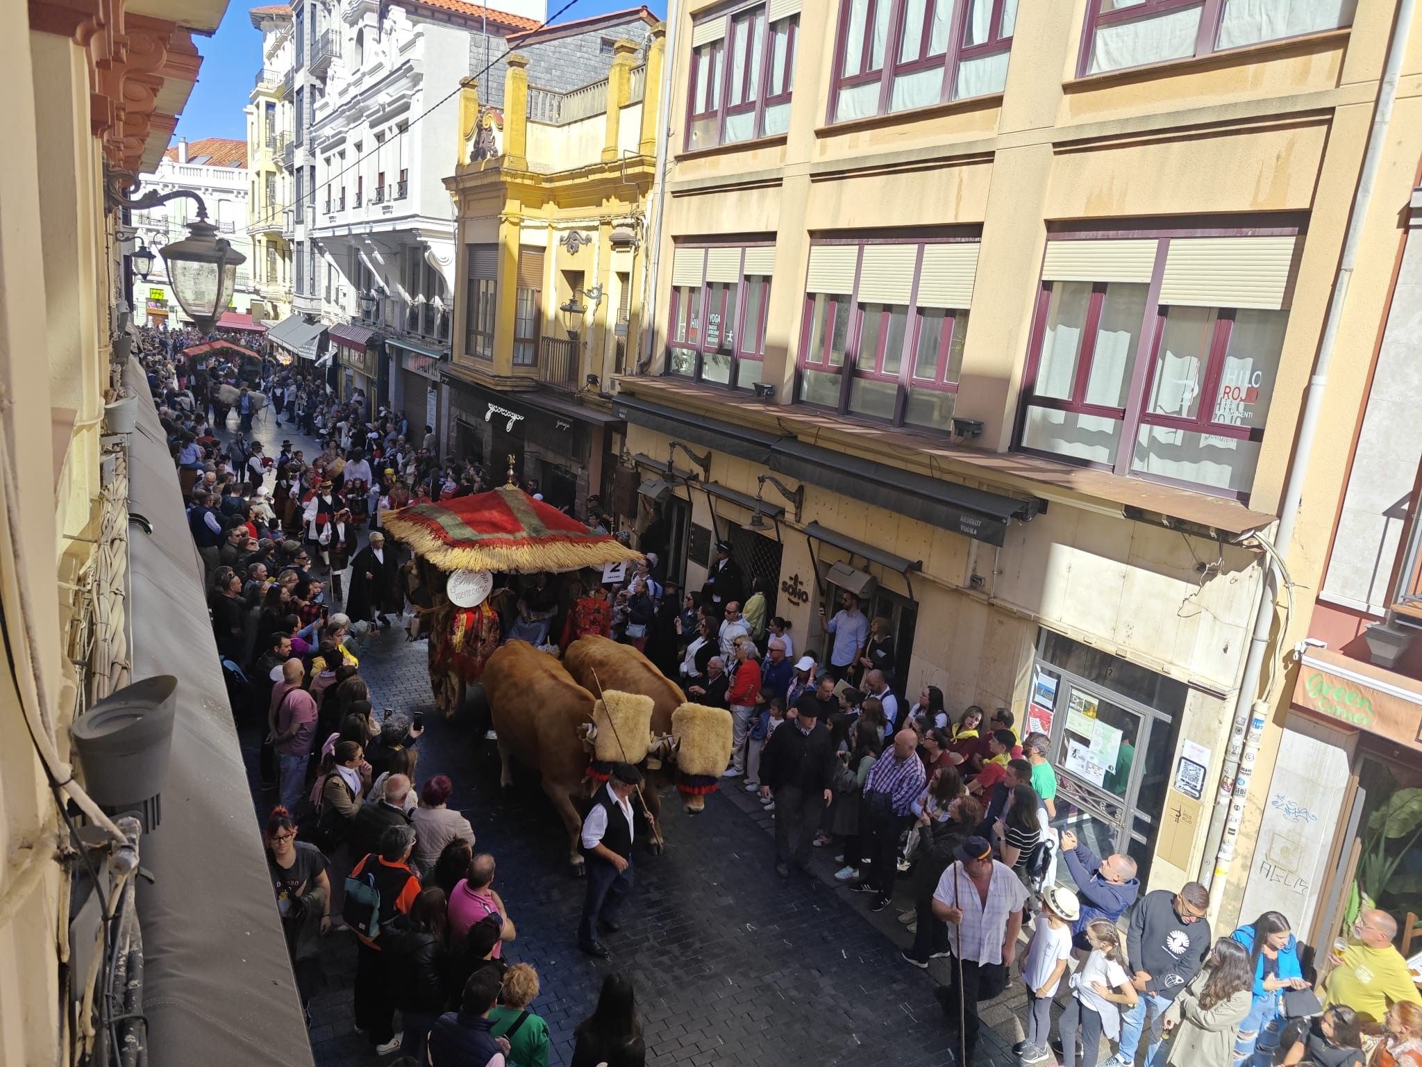
[{"label": "rightmost upper-row window of beige building, cut off by top edge", "polygon": [[1352,24],[1357,0],[1089,0],[1078,75]]}]

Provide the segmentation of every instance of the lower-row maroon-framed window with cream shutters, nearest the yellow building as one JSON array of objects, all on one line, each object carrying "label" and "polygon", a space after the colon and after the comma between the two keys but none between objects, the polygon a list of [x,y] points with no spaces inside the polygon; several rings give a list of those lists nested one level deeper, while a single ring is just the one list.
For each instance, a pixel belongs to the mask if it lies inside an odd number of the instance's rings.
[{"label": "lower-row maroon-framed window with cream shutters, nearest the yellow building", "polygon": [[735,388],[761,380],[774,245],[677,246],[667,373]]}]

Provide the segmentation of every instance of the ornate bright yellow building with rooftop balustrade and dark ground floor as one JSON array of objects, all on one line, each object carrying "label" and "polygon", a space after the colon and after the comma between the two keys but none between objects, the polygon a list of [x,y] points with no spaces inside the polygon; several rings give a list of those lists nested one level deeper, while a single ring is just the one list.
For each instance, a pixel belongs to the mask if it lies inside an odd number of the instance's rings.
[{"label": "ornate bright yellow building with rooftop balustrade and dark ground floor", "polygon": [[505,57],[502,114],[466,84],[465,162],[445,181],[461,279],[445,451],[499,474],[512,454],[549,502],[579,509],[611,484],[623,427],[609,388],[631,368],[643,319],[664,27],[646,9],[636,24],[644,44],[619,38],[602,81],[530,87],[519,51]]}]

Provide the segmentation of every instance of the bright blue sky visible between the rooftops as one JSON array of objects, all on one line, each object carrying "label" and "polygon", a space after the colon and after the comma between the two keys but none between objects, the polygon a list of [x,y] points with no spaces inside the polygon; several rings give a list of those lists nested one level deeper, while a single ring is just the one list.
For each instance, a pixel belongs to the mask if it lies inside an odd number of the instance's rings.
[{"label": "bright blue sky visible between the rooftops", "polygon": [[[566,0],[549,0],[552,14]],[[247,11],[260,6],[260,0],[233,0],[228,14],[210,38],[196,38],[202,53],[202,73],[192,90],[188,107],[178,120],[178,135],[196,141],[199,137],[247,135],[242,108],[247,105],[252,80],[262,65],[262,34],[252,28]],[[587,18],[603,11],[617,11],[636,7],[636,0],[576,0],[559,21]],[[491,7],[498,7],[495,0]],[[665,0],[648,1],[647,7],[658,16],[667,10]]]}]

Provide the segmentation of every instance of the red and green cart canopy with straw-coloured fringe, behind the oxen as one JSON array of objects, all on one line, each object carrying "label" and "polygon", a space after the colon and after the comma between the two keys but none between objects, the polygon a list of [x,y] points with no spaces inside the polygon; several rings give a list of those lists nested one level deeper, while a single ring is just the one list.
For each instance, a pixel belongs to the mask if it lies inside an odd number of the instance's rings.
[{"label": "red and green cart canopy with straw-coloured fringe, behind the oxen", "polygon": [[412,504],[381,524],[441,570],[580,570],[634,562],[641,553],[593,534],[522,489],[505,485],[442,504]]}]

